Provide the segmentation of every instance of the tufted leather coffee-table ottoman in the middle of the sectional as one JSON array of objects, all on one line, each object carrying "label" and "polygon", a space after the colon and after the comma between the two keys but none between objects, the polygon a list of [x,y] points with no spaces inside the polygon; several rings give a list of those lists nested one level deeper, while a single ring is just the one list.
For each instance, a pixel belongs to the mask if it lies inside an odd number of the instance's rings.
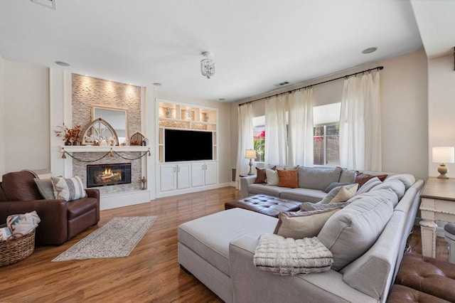
[{"label": "tufted leather coffee-table ottoman in the middle of the sectional", "polygon": [[263,213],[267,216],[278,218],[282,211],[299,211],[301,202],[282,199],[274,196],[255,195],[240,200],[228,201],[225,209],[244,208],[248,211]]}]

